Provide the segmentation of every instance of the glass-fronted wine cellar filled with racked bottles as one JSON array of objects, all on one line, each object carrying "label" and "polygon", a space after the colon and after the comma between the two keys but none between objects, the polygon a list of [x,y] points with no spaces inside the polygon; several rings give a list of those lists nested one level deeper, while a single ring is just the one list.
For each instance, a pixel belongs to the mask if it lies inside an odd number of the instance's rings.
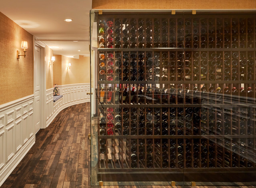
[{"label": "glass-fronted wine cellar filled with racked bottles", "polygon": [[98,181],[255,184],[255,15],[96,13]]}]

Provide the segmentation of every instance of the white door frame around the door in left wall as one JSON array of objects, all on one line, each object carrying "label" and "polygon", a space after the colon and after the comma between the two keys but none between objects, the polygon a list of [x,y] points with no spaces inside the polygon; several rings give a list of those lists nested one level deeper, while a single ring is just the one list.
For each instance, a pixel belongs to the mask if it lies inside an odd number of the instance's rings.
[{"label": "white door frame around the door in left wall", "polygon": [[[35,52],[35,46],[41,49],[41,63],[40,63],[40,75],[35,74],[35,63],[36,63],[36,55],[34,54],[34,95],[35,95],[35,83],[36,83],[36,76],[40,76],[40,95],[41,95],[41,127],[40,128],[46,128],[46,118],[45,118],[45,107],[46,107],[46,53],[45,53],[45,47],[46,45],[42,43],[41,41],[36,40],[34,37],[34,51]],[[36,109],[35,109],[36,110]],[[35,112],[36,113],[36,112]],[[36,124],[36,119],[34,118],[34,127]],[[36,132],[35,132],[36,134]]]}]

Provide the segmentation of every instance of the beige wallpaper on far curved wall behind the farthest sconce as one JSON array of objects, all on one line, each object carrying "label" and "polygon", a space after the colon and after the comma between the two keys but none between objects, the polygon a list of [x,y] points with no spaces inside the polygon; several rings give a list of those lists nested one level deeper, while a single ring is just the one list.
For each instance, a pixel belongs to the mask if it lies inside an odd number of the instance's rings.
[{"label": "beige wallpaper on far curved wall behind the farthest sconce", "polygon": [[[71,68],[67,70],[68,63],[71,63]],[[81,83],[90,83],[90,57],[62,56],[62,85]]]}]

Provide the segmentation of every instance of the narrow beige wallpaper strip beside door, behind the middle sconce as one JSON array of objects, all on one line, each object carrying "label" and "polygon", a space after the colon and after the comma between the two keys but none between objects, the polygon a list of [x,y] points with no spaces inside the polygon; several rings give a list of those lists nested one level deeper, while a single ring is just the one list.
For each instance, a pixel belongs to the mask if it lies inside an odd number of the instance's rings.
[{"label": "narrow beige wallpaper strip beside door, behind the middle sconce", "polygon": [[46,90],[53,88],[53,66],[49,66],[49,61],[51,61],[53,56],[53,50],[46,46]]}]

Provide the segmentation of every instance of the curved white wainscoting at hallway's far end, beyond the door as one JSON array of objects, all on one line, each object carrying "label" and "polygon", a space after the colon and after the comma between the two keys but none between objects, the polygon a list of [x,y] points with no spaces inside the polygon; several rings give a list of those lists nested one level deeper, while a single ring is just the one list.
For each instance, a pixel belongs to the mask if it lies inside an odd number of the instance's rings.
[{"label": "curved white wainscoting at hallway's far end, beyond the door", "polygon": [[90,95],[86,95],[86,93],[90,93],[90,83],[61,85],[58,86],[58,89],[59,94],[63,97],[56,102],[53,102],[53,88],[46,90],[46,127],[64,108],[90,102]]}]

